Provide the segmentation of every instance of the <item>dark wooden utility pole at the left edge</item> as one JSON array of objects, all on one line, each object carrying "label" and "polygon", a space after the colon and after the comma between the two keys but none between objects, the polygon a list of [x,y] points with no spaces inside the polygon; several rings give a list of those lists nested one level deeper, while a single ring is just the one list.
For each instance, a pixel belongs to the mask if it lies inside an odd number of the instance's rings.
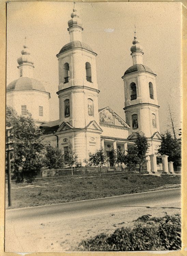
[{"label": "dark wooden utility pole at the left edge", "polygon": [[10,162],[10,152],[13,148],[10,147],[13,142],[10,142],[10,130],[12,127],[6,127],[6,152],[7,152],[7,167],[8,167],[8,205],[11,206],[11,162]]}]

